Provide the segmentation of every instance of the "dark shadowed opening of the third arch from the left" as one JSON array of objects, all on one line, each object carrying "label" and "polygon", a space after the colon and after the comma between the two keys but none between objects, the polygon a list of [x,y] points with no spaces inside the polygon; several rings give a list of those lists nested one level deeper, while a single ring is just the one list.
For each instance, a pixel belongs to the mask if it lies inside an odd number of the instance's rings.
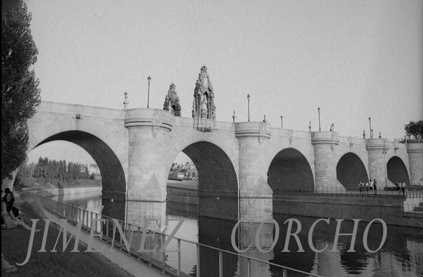
[{"label": "dark shadowed opening of the third arch from the left", "polygon": [[314,177],[307,158],[294,148],[276,154],[267,171],[267,183],[273,194],[290,189],[314,190]]}]

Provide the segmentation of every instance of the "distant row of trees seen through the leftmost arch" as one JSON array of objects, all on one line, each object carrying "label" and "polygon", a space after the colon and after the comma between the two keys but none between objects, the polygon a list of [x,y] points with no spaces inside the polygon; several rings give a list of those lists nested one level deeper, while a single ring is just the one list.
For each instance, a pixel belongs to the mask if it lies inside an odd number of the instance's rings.
[{"label": "distant row of trees seen through the leftmost arch", "polygon": [[88,165],[66,160],[49,160],[39,158],[38,162],[24,163],[19,168],[21,178],[44,178],[46,180],[56,179],[58,181],[72,181],[77,179],[94,179],[94,173],[89,174]]}]

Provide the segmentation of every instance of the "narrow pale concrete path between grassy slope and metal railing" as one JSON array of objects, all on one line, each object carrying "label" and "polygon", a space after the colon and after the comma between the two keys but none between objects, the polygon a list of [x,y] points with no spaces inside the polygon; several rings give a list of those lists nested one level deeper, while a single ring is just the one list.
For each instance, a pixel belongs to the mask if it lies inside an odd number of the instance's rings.
[{"label": "narrow pale concrete path between grassy slope and metal railing", "polygon": [[[51,213],[49,213],[48,211],[44,210],[44,215],[51,219],[51,221],[59,226],[62,225],[62,222],[59,220],[59,218]],[[68,230],[74,230],[75,226],[67,223],[67,228]],[[81,237],[80,240],[82,242],[84,242],[85,244],[88,244],[88,239],[89,239],[89,234],[85,233],[84,231],[81,231]],[[110,244],[95,238],[92,241],[92,249],[93,250],[97,250],[97,249],[101,249],[103,247],[103,245],[106,245],[105,248],[110,248]],[[158,277],[158,276],[162,276],[161,274],[149,269],[148,267],[138,263],[137,261],[131,259],[130,257],[128,257],[127,255],[124,255],[122,252],[120,252],[119,250],[116,250],[115,252],[109,252],[109,251],[104,251],[101,253],[103,256],[105,256],[107,259],[109,259],[110,261],[112,261],[113,263],[117,264],[118,266],[120,266],[122,269],[126,270],[127,272],[129,272],[130,274],[132,274],[135,277]]]}]

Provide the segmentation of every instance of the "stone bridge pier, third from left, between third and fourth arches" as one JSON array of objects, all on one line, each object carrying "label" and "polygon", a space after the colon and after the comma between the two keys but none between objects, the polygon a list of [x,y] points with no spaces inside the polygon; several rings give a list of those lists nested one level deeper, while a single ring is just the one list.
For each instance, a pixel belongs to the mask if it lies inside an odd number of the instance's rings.
[{"label": "stone bridge pier, third from left, between third and fourth arches", "polygon": [[311,132],[311,144],[314,148],[316,193],[326,191],[345,191],[345,188],[339,183],[337,179],[337,161],[335,160],[335,148],[339,144],[338,133]]}]

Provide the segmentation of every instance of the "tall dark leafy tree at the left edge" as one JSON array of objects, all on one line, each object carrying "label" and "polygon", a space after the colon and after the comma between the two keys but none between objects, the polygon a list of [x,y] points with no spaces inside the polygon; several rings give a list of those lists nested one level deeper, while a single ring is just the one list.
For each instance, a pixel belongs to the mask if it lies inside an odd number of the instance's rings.
[{"label": "tall dark leafy tree at the left edge", "polygon": [[39,80],[30,66],[38,50],[31,36],[31,13],[22,0],[2,3],[1,13],[1,179],[26,160],[27,120],[40,104]]}]

